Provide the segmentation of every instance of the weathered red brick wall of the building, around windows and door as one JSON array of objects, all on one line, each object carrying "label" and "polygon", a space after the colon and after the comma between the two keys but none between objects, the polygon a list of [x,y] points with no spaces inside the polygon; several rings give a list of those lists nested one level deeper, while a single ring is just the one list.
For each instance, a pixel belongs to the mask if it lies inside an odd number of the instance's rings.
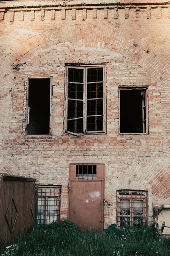
[{"label": "weathered red brick wall of the building, around windows and door", "polygon": [[[105,224],[116,189],[170,200],[170,5],[91,1],[0,3],[0,172],[62,185],[70,163],[105,164]],[[65,64],[106,64],[107,134],[63,134]],[[52,136],[26,136],[28,77],[52,76]],[[119,134],[119,86],[148,86],[149,134]]]}]

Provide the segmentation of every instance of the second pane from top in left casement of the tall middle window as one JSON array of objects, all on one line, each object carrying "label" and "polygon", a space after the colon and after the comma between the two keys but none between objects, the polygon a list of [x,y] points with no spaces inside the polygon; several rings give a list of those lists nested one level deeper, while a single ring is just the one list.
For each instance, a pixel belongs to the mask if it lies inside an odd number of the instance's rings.
[{"label": "second pane from top in left casement of the tall middle window", "polygon": [[68,98],[83,99],[83,84],[68,83]]}]

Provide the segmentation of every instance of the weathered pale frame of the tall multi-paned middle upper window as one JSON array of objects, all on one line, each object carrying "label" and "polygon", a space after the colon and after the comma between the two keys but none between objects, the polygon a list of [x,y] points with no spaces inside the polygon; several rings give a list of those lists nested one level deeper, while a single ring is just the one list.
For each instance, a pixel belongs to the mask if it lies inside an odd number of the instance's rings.
[{"label": "weathered pale frame of the tall multi-paned middle upper window", "polygon": [[[88,74],[88,69],[91,68],[103,68],[103,130],[102,131],[87,131],[87,74]],[[83,69],[83,133],[82,134],[98,134],[98,133],[106,133],[106,69],[105,65],[99,64],[99,65],[79,65],[79,66],[74,66],[74,65],[66,65],[65,66],[65,122],[64,122],[64,133],[68,134],[74,134],[78,135],[81,133],[74,133],[71,131],[67,130],[67,113],[68,113],[68,69]],[[90,82],[89,82],[90,83]],[[93,82],[91,82],[93,83]],[[100,81],[101,83],[101,81]],[[78,135],[79,136],[79,135]]]}]

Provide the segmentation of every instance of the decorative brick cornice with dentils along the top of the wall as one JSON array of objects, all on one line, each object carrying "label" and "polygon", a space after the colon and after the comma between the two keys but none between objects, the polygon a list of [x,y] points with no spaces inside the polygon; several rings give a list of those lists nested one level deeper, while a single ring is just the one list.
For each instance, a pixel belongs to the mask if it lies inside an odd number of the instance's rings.
[{"label": "decorative brick cornice with dentils along the top of the wall", "polygon": [[[164,12],[163,8],[168,9],[168,11]],[[132,13],[130,12],[130,10],[132,9],[135,10],[136,12],[135,16],[132,15]],[[90,10],[91,14],[89,11],[87,12],[87,10]],[[72,7],[71,6],[55,6],[55,7],[32,6],[30,8],[25,6],[23,8],[21,7],[20,8],[6,7],[5,9],[0,8],[0,22],[3,22],[4,20],[15,22],[15,13],[20,13],[19,20],[24,21],[26,12],[30,16],[30,21],[34,21],[35,12],[38,12],[37,17],[40,16],[39,19],[42,21],[46,19],[46,15],[48,15],[48,12],[50,12],[51,20],[58,19],[59,17],[61,17],[61,20],[67,20],[69,18],[70,11],[71,11],[72,20],[77,20],[78,11],[79,11],[79,17],[82,16],[82,20],[86,20],[91,17],[97,20],[98,10],[100,10],[100,12],[101,11],[103,12],[103,19],[108,19],[109,17],[110,19],[112,18],[122,19],[123,17],[122,12],[124,12],[125,19],[128,19],[128,18],[140,19],[141,15],[143,15],[144,13],[145,15],[142,16],[143,19],[170,18],[170,5],[166,5],[166,6],[134,6],[134,5],[133,6],[128,6],[128,5],[127,6],[120,6],[120,5],[119,6],[117,5],[94,6],[94,5],[91,5],[91,6],[72,6]],[[59,12],[60,12],[60,15],[58,15]],[[6,15],[6,13],[10,13],[10,15]],[[119,15],[119,13],[121,13],[121,15]]]}]

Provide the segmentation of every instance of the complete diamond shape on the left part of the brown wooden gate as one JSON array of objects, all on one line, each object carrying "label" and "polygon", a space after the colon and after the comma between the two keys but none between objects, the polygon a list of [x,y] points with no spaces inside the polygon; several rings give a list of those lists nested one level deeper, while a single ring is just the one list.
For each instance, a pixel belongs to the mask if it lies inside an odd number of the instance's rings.
[{"label": "complete diamond shape on the left part of the brown wooden gate", "polygon": [[11,201],[8,205],[6,215],[5,215],[6,222],[11,232],[14,230],[14,226],[17,221],[17,216],[18,216],[18,210],[12,195]]}]

